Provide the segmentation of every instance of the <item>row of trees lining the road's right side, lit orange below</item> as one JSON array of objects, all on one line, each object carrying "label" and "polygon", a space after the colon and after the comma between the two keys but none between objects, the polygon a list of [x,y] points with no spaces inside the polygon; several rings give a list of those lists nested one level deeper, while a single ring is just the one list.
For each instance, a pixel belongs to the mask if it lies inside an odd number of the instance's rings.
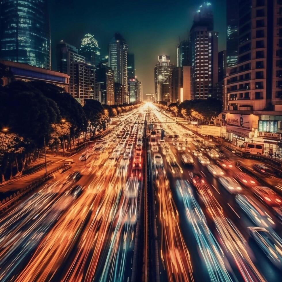
[{"label": "row of trees lining the road's right side, lit orange below", "polygon": [[182,103],[159,102],[158,106],[176,117],[183,117],[190,121],[198,121],[199,124],[214,124],[216,117],[222,111],[222,102],[218,99],[185,100]]}]

